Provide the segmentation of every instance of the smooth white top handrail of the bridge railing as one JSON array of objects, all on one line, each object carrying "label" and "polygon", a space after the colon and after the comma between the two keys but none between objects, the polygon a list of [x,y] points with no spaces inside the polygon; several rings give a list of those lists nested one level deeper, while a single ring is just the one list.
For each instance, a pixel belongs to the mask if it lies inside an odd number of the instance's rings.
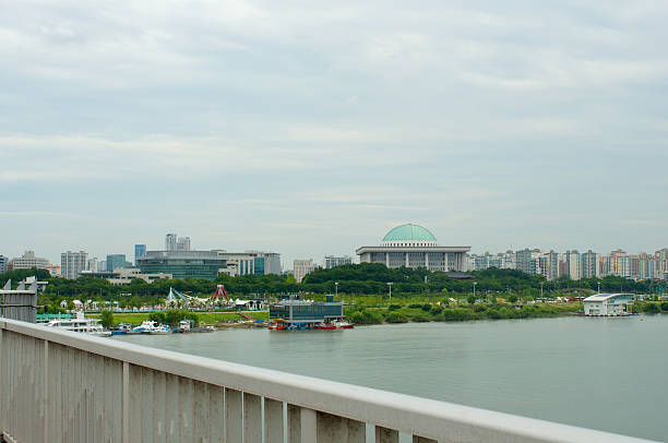
[{"label": "smooth white top handrail of the bridge railing", "polygon": [[213,385],[437,440],[647,442],[452,403],[290,374],[0,319],[0,328]]}]

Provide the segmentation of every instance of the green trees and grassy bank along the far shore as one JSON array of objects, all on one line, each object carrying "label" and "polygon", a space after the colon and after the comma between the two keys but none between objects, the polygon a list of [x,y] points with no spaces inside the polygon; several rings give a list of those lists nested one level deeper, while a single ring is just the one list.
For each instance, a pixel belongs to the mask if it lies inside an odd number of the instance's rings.
[{"label": "green trees and grassy bank along the far shore", "polygon": [[[645,295],[633,312],[668,312],[668,282],[633,280],[618,276],[571,280],[559,277],[548,282],[542,275],[529,275],[515,270],[490,267],[452,278],[448,273],[427,268],[387,268],[378,263],[361,263],[318,268],[300,284],[293,275],[222,274],[215,280],[158,279],[151,284],[135,278],[130,284],[115,286],[104,278],[51,277],[46,270],[16,270],[0,274],[0,285],[8,279],[13,286],[26,276],[35,275],[48,282],[39,294],[39,312],[59,313],[72,310],[74,300],[96,302],[99,307],[117,304],[122,310],[139,312],[164,307],[169,289],[206,299],[216,285],[225,285],[232,299],[261,298],[265,302],[282,296],[298,295],[303,299],[335,299],[346,303],[345,313],[357,324],[450,322],[469,320],[533,319],[572,315],[582,312],[581,300],[600,289],[601,292]],[[390,286],[392,285],[392,286]],[[390,289],[392,295],[390,297]],[[153,307],[153,308],[152,308]],[[186,306],[178,304],[179,308]],[[253,311],[244,311],[254,316]],[[206,324],[241,320],[234,311],[195,311]],[[124,316],[129,315],[129,316]],[[148,320],[151,312],[115,312],[114,323]],[[266,313],[259,320],[267,320]],[[140,321],[141,320],[141,321]]]}]

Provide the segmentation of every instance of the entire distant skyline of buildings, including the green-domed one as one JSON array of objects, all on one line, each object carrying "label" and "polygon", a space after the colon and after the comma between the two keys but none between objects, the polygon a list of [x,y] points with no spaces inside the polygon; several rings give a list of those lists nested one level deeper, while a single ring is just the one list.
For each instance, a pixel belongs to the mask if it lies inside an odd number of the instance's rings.
[{"label": "entire distant skyline of buildings, including the green-domed one", "polygon": [[[629,254],[621,249],[608,254],[588,250],[556,252],[523,249],[500,253],[470,254],[467,246],[441,246],[427,228],[406,224],[391,229],[378,246],[356,250],[361,263],[379,263],[390,268],[426,267],[429,271],[461,273],[489,267],[517,270],[529,275],[544,275],[548,280],[566,276],[573,280],[609,275],[633,279],[667,279],[668,248],[655,253]],[[43,268],[53,277],[75,279],[80,276],[107,278],[115,285],[129,284],[134,278],[153,282],[157,278],[215,279],[219,274],[231,277],[243,275],[293,274],[297,283],[317,268],[331,270],[351,264],[349,255],[325,255],[322,263],[313,259],[297,259],[293,270],[283,271],[281,254],[270,251],[226,250],[198,251],[191,249],[190,237],[177,234],[165,236],[165,249],[148,251],[146,244],[134,244],[134,262],[126,254],[107,254],[105,260],[88,256],[86,251],[61,253],[60,265],[51,264],[34,251],[9,259],[0,255],[0,273],[12,270]]]}]

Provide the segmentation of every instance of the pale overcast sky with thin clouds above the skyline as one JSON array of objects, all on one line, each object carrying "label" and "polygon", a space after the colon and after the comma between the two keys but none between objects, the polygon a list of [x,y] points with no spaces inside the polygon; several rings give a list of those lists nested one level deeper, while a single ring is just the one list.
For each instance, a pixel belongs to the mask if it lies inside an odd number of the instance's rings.
[{"label": "pale overcast sky with thin clouds above the skyline", "polygon": [[668,247],[668,3],[0,2],[0,254]]}]

